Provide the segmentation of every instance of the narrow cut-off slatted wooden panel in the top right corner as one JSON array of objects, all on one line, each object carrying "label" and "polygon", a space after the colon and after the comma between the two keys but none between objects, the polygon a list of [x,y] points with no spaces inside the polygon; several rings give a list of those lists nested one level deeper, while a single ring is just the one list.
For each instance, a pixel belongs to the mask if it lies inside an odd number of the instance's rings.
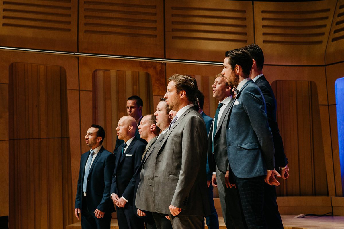
[{"label": "narrow cut-off slatted wooden panel in the top right corner", "polygon": [[344,60],[344,0],[337,0],[329,40],[327,41],[325,63]]}]

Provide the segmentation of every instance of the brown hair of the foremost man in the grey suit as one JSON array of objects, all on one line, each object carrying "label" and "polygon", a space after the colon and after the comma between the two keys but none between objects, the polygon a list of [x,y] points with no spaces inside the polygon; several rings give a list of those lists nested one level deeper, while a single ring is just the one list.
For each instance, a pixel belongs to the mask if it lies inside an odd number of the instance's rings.
[{"label": "brown hair of the foremost man in the grey suit", "polygon": [[178,75],[174,74],[169,77],[168,81],[173,81],[175,83],[175,89],[177,93],[181,91],[186,92],[186,98],[193,102],[198,90],[196,79],[192,78],[190,75]]}]

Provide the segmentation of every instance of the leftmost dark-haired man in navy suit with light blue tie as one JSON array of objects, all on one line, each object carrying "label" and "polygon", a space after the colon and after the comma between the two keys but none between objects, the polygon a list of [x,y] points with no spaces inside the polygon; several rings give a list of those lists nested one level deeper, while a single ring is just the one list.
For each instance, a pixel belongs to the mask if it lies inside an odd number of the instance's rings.
[{"label": "leftmost dark-haired man in navy suit with light blue tie", "polygon": [[83,229],[109,229],[114,212],[110,198],[111,176],[115,155],[104,149],[105,131],[93,124],[85,136],[90,150],[81,155],[78,185],[75,197],[75,216]]}]

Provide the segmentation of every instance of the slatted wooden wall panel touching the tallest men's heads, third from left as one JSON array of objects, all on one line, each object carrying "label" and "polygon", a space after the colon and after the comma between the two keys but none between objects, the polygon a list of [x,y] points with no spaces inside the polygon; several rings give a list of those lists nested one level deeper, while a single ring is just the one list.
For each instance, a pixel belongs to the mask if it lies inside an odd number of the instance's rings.
[{"label": "slatted wooden wall panel touching the tallest men's heads, third from left", "polygon": [[220,61],[254,43],[250,1],[165,1],[166,58]]}]

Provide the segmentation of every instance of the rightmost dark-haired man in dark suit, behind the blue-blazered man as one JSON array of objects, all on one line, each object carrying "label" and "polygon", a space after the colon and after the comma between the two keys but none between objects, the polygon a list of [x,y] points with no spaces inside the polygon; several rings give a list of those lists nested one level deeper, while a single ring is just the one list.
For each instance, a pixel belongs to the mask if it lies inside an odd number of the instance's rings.
[{"label": "rightmost dark-haired man in dark suit, behind the blue-blazered man", "polygon": [[[288,160],[284,154],[283,141],[279,133],[278,123],[276,121],[276,99],[273,94],[269,82],[263,75],[264,54],[258,45],[251,44],[245,46],[245,49],[252,58],[252,69],[250,78],[255,82],[263,93],[266,103],[266,114],[269,119],[269,126],[273,136],[273,144],[275,146],[275,168],[279,168],[283,179],[287,179],[288,174]],[[276,172],[277,176],[280,176]],[[277,193],[275,185],[264,184],[264,217],[267,221],[269,229],[283,229],[281,215],[278,212]]]}]

